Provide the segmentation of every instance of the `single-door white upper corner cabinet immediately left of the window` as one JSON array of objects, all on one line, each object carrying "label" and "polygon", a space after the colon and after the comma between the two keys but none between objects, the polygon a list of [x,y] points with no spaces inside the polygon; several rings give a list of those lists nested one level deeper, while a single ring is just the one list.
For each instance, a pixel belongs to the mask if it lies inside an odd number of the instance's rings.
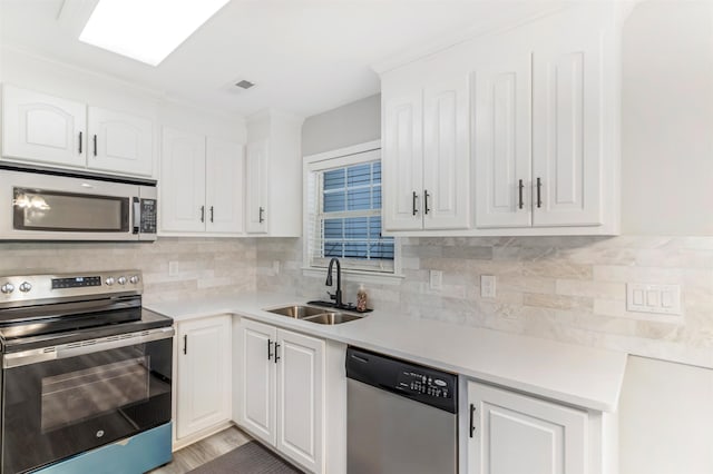
[{"label": "single-door white upper corner cabinet immediately left of the window", "polygon": [[302,119],[270,110],[247,120],[245,227],[302,236]]}]

